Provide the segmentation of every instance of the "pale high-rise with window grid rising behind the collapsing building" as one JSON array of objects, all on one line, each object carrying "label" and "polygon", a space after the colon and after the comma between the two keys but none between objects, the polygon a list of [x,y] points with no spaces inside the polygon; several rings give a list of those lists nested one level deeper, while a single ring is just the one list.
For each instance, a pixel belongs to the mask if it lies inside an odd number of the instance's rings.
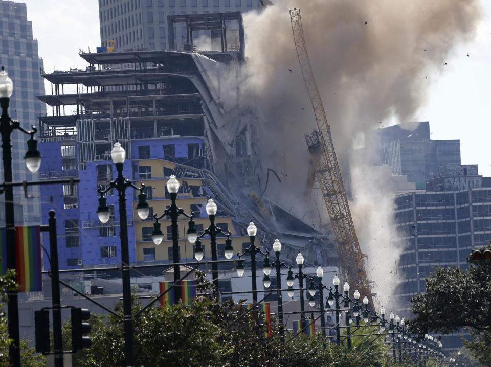
[{"label": "pale high-rise with window grid rising behind the collapsing building", "polygon": [[[203,27],[189,33],[186,24],[171,25],[168,17],[257,9],[259,0],[99,0],[101,44],[107,46],[107,41],[114,41],[114,51],[182,50],[184,45],[193,43],[190,37],[194,41],[206,37],[209,41],[204,40],[196,47],[218,51],[222,44],[220,28]],[[237,50],[237,22],[225,18],[222,22],[229,29],[226,50]]]}]

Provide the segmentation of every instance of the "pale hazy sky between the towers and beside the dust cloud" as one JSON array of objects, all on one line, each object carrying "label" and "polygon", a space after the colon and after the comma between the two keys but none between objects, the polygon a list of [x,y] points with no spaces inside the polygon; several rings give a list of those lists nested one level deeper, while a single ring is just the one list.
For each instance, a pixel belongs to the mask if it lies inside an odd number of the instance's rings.
[{"label": "pale hazy sky between the towers and beside the dust cloud", "polygon": [[[100,43],[98,0],[23,2],[44,69],[85,68],[78,50],[92,52]],[[433,139],[460,139],[462,164],[478,164],[480,174],[491,176],[491,2],[482,0],[482,5],[485,14],[477,37],[458,47],[447,65],[428,75],[429,98],[416,119],[430,121]],[[47,93],[49,88],[47,84]]]}]

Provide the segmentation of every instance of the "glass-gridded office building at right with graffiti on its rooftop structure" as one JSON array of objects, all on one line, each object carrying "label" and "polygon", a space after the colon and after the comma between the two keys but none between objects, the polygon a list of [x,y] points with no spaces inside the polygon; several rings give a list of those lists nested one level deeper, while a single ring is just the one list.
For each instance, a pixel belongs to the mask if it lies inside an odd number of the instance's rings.
[{"label": "glass-gridded office building at right with graffiti on its rooftop structure", "polygon": [[[411,297],[425,291],[434,267],[468,269],[465,258],[491,240],[491,179],[477,165],[439,167],[426,190],[397,195],[395,222],[404,244],[398,263],[403,281],[397,287],[399,310],[409,314]],[[446,348],[461,345],[458,336],[443,336]]]}]

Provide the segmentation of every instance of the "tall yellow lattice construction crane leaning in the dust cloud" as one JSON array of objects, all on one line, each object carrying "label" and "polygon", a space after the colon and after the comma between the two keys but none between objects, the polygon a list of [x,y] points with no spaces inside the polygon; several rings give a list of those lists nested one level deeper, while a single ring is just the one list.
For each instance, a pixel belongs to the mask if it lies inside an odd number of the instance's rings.
[{"label": "tall yellow lattice construction crane leaning in the dust cloud", "polygon": [[344,271],[350,289],[352,291],[358,289],[361,299],[367,296],[371,307],[373,307],[372,293],[364,264],[367,256],[362,254],[356,232],[354,231],[353,219],[349,211],[338,159],[332,144],[331,130],[327,124],[326,112],[324,111],[310,61],[308,60],[300,9],[294,8],[290,10],[290,19],[292,21],[293,39],[297,49],[298,61],[308,96],[314,108],[319,130],[305,136],[305,139],[312,158],[316,178],[326,203],[332,229],[338,242],[340,266]]}]

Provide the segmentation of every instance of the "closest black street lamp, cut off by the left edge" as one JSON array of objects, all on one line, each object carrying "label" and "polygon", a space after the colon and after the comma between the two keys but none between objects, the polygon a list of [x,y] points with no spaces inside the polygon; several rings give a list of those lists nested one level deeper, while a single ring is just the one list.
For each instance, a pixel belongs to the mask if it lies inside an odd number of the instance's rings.
[{"label": "closest black street lamp, cut off by the left edge", "polygon": [[[4,168],[4,182],[12,182],[12,140],[11,135],[14,130],[19,130],[25,134],[31,135],[27,141],[28,151],[24,158],[29,171],[35,173],[41,165],[41,154],[37,149],[37,140],[34,134],[37,129],[32,125],[31,131],[27,131],[20,126],[16,120],[12,120],[8,114],[10,96],[14,90],[14,83],[9,78],[5,68],[2,66],[0,71],[0,107],[2,116],[0,116],[0,134],[2,134],[2,154]],[[12,186],[5,186],[5,228],[7,243],[7,269],[17,270],[15,260],[15,222],[14,222],[14,194]],[[7,291],[7,317],[8,333],[12,343],[9,346],[10,362],[15,366],[20,366],[20,349],[19,349],[19,311],[17,291]]]}]

